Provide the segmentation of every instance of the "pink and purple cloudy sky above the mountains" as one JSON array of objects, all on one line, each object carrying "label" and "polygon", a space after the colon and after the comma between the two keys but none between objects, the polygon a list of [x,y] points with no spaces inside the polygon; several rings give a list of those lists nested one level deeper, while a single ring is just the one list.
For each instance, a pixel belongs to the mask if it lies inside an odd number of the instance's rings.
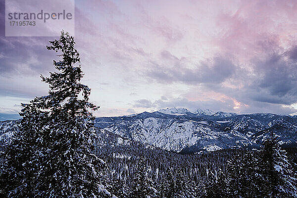
[{"label": "pink and purple cloudy sky above the mountains", "polygon": [[[47,95],[54,37],[5,37],[0,120]],[[75,0],[75,40],[96,116],[164,107],[297,112],[297,0]]]}]

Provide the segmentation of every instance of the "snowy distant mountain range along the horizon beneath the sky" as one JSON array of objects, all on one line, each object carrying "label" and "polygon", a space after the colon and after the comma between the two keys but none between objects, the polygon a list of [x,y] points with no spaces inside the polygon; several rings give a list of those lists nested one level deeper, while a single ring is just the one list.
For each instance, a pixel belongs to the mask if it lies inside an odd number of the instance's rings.
[{"label": "snowy distant mountain range along the horizon beneath the sky", "polygon": [[[0,122],[0,141],[17,130],[18,121]],[[186,108],[99,117],[95,126],[122,137],[176,152],[258,148],[273,131],[284,147],[297,146],[297,116],[236,114]]]}]

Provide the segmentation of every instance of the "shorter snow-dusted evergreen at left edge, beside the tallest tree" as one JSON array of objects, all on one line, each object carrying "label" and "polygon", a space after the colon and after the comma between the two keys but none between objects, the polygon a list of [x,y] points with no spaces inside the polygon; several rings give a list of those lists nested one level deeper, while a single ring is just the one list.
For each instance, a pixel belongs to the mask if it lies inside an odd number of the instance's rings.
[{"label": "shorter snow-dusted evergreen at left edge, beside the tallest tree", "polygon": [[40,155],[43,155],[43,133],[48,112],[41,111],[32,100],[24,107],[20,131],[12,137],[3,153],[5,162],[1,167],[0,193],[3,197],[34,197],[37,186]]}]

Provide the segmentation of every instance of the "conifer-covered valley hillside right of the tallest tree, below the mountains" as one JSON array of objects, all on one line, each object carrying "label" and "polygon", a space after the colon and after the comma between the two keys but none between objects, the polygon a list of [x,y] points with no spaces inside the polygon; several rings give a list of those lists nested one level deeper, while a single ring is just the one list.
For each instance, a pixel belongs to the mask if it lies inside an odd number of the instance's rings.
[{"label": "conifer-covered valley hillside right of the tallest tree, below the mountains", "polygon": [[[268,198],[273,189],[278,190],[276,197],[281,197],[282,189],[291,192],[283,197],[296,197],[297,148],[286,149],[289,162],[286,164],[285,153],[271,147],[271,143],[267,145],[274,150],[271,159],[263,159],[271,148],[180,154],[99,128],[94,130],[97,134],[94,152],[106,162],[103,180],[108,191],[118,198],[147,195],[151,198]],[[274,164],[272,175],[279,181],[275,187],[268,185],[274,178],[269,178],[263,160],[272,160]]]}]

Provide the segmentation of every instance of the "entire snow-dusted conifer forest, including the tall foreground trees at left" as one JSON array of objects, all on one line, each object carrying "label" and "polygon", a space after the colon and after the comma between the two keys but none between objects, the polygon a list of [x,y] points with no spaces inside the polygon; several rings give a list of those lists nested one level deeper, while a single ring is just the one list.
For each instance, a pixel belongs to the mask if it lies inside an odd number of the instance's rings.
[{"label": "entire snow-dusted conifer forest, including the tall foreground trees at left", "polygon": [[297,198],[297,149],[273,133],[260,149],[181,154],[94,127],[91,89],[74,38],[47,49],[49,95],[22,104],[22,120],[1,147],[0,197]]}]

